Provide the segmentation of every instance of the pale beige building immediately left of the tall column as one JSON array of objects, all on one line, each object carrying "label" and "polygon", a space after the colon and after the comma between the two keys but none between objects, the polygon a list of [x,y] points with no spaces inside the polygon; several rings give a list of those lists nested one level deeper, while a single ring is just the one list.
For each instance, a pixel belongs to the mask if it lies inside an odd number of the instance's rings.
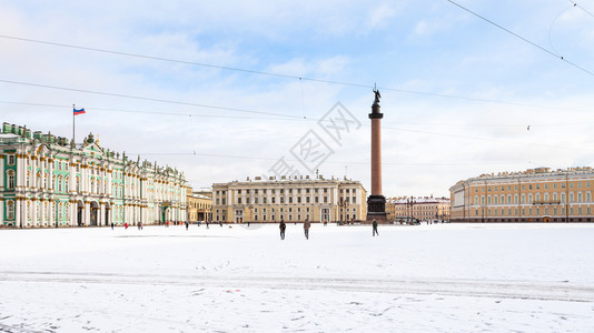
[{"label": "pale beige building immediately left of the tall column", "polygon": [[226,223],[360,222],[367,192],[358,181],[269,178],[212,184],[212,221]]}]

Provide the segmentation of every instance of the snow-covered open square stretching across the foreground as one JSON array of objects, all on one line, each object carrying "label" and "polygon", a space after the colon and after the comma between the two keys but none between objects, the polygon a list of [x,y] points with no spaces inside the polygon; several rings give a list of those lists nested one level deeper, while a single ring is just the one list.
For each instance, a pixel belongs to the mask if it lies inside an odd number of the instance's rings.
[{"label": "snow-covered open square stretching across the foreground", "polygon": [[594,331],[594,225],[278,233],[0,230],[0,331]]}]

